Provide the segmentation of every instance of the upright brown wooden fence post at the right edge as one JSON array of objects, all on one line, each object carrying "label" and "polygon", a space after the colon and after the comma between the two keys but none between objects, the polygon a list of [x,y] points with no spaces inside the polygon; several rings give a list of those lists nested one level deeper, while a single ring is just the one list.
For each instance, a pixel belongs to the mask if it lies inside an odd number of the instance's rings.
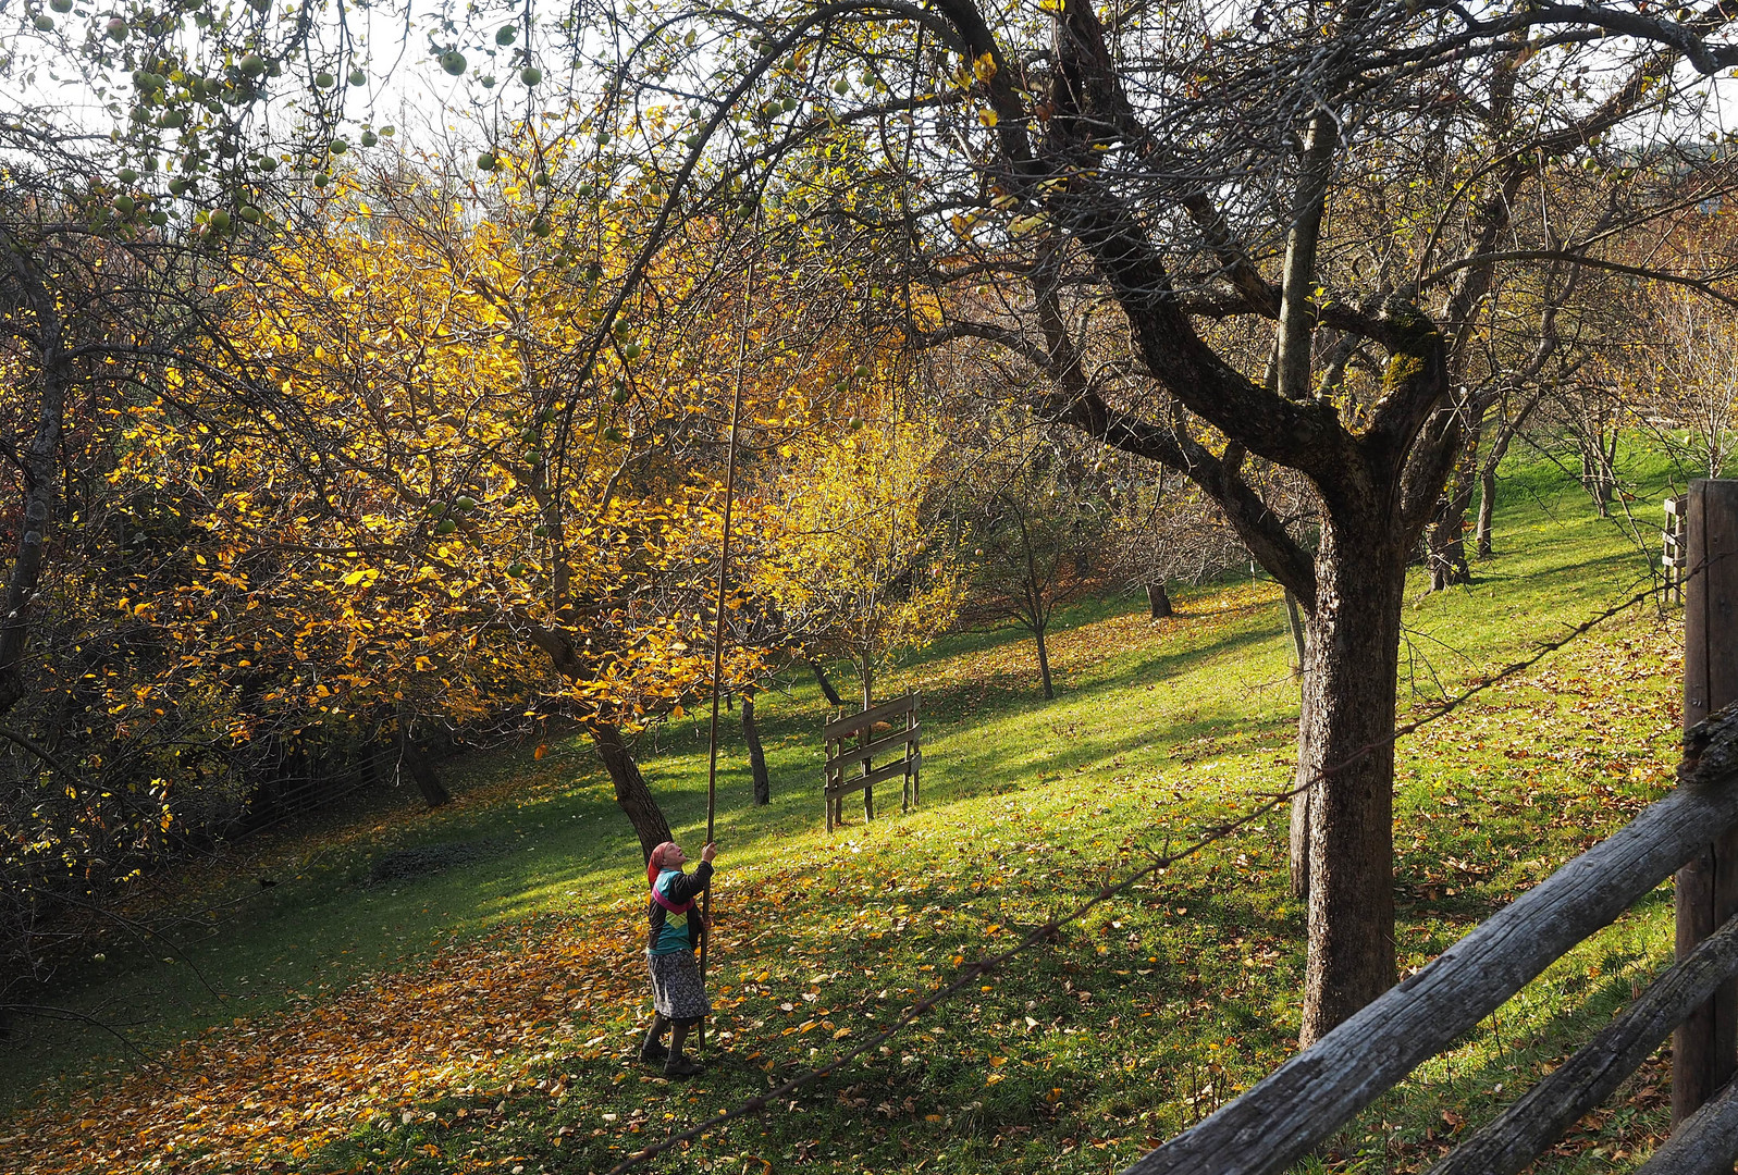
[{"label": "upright brown wooden fence post at the right edge", "polygon": [[[1738,700],[1738,481],[1691,481],[1684,584],[1684,728]],[[1677,871],[1677,958],[1738,913],[1738,829]],[[1733,1076],[1738,980],[1726,980],[1672,1034],[1672,1126]]]}]

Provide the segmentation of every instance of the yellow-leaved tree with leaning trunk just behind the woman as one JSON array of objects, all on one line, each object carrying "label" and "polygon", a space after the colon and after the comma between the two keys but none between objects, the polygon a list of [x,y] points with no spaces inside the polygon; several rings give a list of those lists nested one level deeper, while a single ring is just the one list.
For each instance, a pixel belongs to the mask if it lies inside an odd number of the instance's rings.
[{"label": "yellow-leaved tree with leaning trunk just behind the woman", "polygon": [[[440,177],[344,176],[323,233],[242,268],[240,316],[252,360],[311,421],[289,461],[323,509],[295,511],[297,544],[334,600],[309,627],[332,633],[325,664],[372,666],[335,680],[450,721],[528,707],[580,723],[650,850],[669,824],[633,735],[709,685],[728,388],[714,358],[740,313],[636,302],[598,381],[575,388],[574,351],[619,264],[608,221],[631,200],[541,198],[541,167],[502,151],[462,202],[474,221]],[[652,278],[680,295],[706,275]],[[725,688],[760,657],[728,652]]]}]

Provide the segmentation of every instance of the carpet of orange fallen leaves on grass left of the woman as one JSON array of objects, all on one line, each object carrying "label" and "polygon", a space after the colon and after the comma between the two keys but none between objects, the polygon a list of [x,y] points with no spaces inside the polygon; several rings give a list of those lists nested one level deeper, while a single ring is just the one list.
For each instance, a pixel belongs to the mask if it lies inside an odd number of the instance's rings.
[{"label": "carpet of orange fallen leaves on grass left of the woman", "polygon": [[[301,1158],[363,1119],[513,1079],[501,1057],[521,1064],[528,1048],[558,1043],[558,1015],[584,1026],[629,1012],[641,972],[638,913],[511,925],[316,1006],[210,1029],[160,1071],[23,1116],[0,1135],[0,1152],[17,1175]],[[594,1032],[579,1052],[620,1052],[620,1041]]]}]

